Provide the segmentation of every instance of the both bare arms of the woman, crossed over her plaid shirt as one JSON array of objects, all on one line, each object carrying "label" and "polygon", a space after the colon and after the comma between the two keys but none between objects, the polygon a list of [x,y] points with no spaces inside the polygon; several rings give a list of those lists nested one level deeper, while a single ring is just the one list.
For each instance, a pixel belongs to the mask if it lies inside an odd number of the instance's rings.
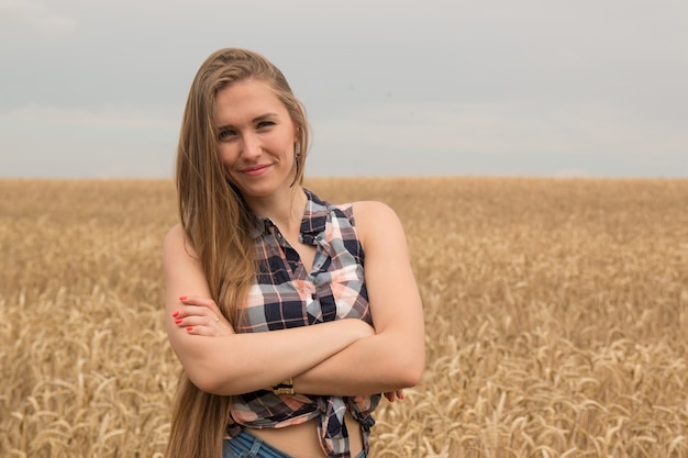
[{"label": "both bare arms of the woman, crossed over her plaid shirt", "polygon": [[[425,364],[420,294],[397,215],[378,202],[354,204],[366,254],[375,328],[337,320],[267,333],[234,333],[210,291],[180,226],[164,247],[165,324],[189,379],[221,395],[266,389],[292,378],[304,394],[393,393],[415,386]],[[219,321],[218,321],[219,319]]]}]

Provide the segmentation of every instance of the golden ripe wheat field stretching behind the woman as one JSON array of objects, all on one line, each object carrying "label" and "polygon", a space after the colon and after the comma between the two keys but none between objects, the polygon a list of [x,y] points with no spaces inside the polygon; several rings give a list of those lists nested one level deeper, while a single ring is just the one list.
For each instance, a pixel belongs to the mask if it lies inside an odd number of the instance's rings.
[{"label": "golden ripe wheat field stretching behind the woman", "polygon": [[[399,213],[428,365],[371,456],[688,457],[688,180],[311,179]],[[160,457],[167,180],[0,180],[0,456]]]}]

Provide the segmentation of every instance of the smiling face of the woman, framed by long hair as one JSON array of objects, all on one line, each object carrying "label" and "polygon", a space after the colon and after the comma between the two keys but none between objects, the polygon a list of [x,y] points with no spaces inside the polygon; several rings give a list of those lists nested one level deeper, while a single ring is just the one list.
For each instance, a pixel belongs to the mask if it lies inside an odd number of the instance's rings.
[{"label": "smiling face of the woman, framed by long hair", "polygon": [[220,90],[214,121],[220,160],[244,199],[289,189],[298,129],[266,82],[244,80]]}]

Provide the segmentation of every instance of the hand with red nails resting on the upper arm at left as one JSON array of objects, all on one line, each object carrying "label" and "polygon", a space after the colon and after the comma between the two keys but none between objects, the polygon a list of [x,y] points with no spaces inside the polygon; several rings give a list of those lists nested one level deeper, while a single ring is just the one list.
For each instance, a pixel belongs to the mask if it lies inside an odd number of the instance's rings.
[{"label": "hand with red nails resting on the upper arm at left", "polygon": [[203,336],[234,334],[232,325],[212,299],[181,295],[179,302],[181,306],[173,313],[173,320],[177,327],[185,328],[188,334]]}]

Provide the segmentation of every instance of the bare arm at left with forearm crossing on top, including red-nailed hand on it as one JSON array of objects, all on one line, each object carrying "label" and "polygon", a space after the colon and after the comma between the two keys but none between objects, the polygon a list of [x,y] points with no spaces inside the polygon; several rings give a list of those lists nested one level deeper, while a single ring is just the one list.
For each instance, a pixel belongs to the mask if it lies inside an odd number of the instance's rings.
[{"label": "bare arm at left with forearm crossing on top, including red-nailed hand on it", "polygon": [[189,379],[203,391],[231,395],[271,387],[373,334],[360,320],[234,333],[208,299],[202,267],[190,244],[185,244],[180,226],[170,230],[165,239],[164,266],[169,342]]}]

